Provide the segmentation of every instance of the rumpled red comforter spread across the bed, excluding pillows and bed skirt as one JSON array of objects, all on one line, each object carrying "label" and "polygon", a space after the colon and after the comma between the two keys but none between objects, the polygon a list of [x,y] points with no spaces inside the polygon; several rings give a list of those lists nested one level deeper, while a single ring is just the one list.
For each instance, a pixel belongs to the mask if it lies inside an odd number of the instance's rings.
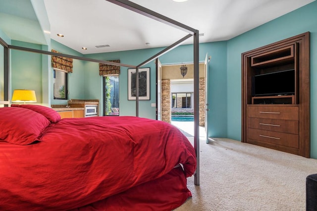
[{"label": "rumpled red comforter spread across the bed, excluding pillows and bed skirt", "polygon": [[75,209],[125,191],[133,195],[132,187],[151,187],[179,171],[178,163],[186,177],[196,169],[187,138],[168,123],[146,118],[61,119],[31,144],[2,139],[0,210]]}]

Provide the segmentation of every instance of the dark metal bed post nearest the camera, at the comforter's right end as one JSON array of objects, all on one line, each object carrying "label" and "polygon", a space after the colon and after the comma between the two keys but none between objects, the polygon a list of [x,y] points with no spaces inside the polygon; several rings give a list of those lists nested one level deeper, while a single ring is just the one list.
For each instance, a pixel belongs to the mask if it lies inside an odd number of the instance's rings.
[{"label": "dark metal bed post nearest the camera, at the comforter's right end", "polygon": [[199,185],[199,31],[194,34],[194,148],[196,151],[197,168],[194,183]]}]

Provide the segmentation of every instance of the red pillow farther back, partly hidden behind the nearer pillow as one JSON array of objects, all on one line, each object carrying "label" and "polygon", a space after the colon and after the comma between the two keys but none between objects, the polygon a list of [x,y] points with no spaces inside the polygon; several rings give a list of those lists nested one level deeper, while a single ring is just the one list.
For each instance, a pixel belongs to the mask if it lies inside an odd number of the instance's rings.
[{"label": "red pillow farther back, partly hidden behind the nearer pillow", "polygon": [[60,115],[50,107],[39,106],[39,105],[27,105],[27,104],[26,105],[12,104],[11,107],[23,107],[23,108],[27,108],[35,112],[41,113],[43,116],[48,118],[48,120],[50,120],[50,122],[52,123],[56,123],[60,120]]}]

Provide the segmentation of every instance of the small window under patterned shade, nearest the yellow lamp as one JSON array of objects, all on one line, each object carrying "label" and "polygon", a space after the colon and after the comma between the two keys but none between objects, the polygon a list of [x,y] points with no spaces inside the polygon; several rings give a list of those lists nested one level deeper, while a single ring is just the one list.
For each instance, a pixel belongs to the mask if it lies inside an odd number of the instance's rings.
[{"label": "small window under patterned shade, nearest the yellow lamp", "polygon": [[57,70],[54,68],[53,70],[53,95],[54,95],[54,99],[57,100],[67,100],[68,96],[68,87],[67,87],[67,72],[62,71],[62,70]]}]

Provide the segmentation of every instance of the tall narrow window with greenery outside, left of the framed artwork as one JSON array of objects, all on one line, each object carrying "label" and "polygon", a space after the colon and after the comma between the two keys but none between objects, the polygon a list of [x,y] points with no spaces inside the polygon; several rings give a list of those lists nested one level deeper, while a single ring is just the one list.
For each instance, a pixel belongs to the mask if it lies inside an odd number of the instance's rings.
[{"label": "tall narrow window with greenery outside, left of the framed artwork", "polygon": [[104,76],[104,115],[119,115],[119,75]]}]

